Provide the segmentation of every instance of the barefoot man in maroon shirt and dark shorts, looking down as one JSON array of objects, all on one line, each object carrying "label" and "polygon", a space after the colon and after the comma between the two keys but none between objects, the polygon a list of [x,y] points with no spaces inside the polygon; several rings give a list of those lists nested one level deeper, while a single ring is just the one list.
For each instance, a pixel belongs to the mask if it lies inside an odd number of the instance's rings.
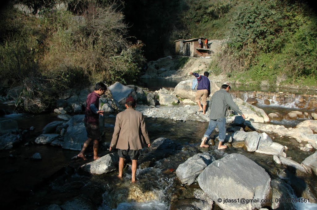
[{"label": "barefoot man in maroon shirt and dark shorts, looking down", "polygon": [[100,96],[105,93],[107,86],[98,82],[95,85],[95,89],[92,93],[89,93],[86,100],[86,109],[85,109],[85,128],[87,131],[88,139],[84,142],[78,157],[87,160],[84,155],[86,148],[88,147],[91,140],[94,140],[93,150],[94,150],[94,160],[99,159],[98,157],[98,145],[100,140],[100,130],[99,130],[99,115],[103,115],[103,111],[99,110],[99,99]]}]

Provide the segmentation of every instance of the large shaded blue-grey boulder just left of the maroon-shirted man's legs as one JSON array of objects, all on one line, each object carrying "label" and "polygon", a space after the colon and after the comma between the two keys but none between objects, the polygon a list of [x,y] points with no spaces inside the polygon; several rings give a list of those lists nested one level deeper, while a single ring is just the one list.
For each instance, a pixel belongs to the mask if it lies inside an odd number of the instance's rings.
[{"label": "large shaded blue-grey boulder just left of the maroon-shirted man's legs", "polygon": [[81,150],[82,145],[87,140],[87,131],[84,123],[69,126],[64,135],[63,149]]}]

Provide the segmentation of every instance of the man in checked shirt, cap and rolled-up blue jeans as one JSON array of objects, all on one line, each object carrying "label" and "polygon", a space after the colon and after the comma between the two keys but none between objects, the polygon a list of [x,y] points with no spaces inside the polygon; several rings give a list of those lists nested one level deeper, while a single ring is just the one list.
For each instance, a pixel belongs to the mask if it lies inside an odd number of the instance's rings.
[{"label": "man in checked shirt, cap and rolled-up blue jeans", "polygon": [[218,129],[219,129],[218,149],[227,148],[227,146],[222,145],[222,143],[226,137],[226,111],[228,109],[228,106],[230,106],[231,109],[233,109],[235,112],[240,114],[243,117],[243,119],[245,119],[245,116],[242,114],[238,106],[235,104],[235,102],[233,102],[230,93],[228,93],[230,89],[231,89],[230,83],[225,82],[221,86],[221,89],[212,95],[209,101],[209,107],[210,107],[209,125],[201,141],[200,147],[209,147],[208,144],[205,144],[205,141],[207,140],[211,132],[218,125]]}]

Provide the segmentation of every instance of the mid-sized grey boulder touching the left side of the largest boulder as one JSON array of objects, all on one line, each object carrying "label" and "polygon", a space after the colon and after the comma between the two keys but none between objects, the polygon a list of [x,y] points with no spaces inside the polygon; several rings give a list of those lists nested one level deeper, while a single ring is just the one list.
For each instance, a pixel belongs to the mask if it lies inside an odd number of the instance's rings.
[{"label": "mid-sized grey boulder touching the left side of the largest boulder", "polygon": [[198,153],[178,165],[176,176],[182,184],[192,184],[196,181],[200,172],[213,161],[215,161],[215,158],[211,155]]}]

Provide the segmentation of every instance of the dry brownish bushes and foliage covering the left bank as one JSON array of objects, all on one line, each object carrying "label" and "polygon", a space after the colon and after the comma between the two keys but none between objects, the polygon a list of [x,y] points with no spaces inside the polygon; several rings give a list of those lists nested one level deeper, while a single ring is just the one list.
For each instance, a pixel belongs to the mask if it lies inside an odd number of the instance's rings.
[{"label": "dry brownish bushes and foliage covering the left bank", "polygon": [[83,84],[131,84],[145,63],[143,43],[126,39],[117,4],[76,3],[71,10],[37,6],[37,15],[8,5],[1,13],[1,86],[21,87],[17,106],[25,111],[42,112],[62,90]]}]

